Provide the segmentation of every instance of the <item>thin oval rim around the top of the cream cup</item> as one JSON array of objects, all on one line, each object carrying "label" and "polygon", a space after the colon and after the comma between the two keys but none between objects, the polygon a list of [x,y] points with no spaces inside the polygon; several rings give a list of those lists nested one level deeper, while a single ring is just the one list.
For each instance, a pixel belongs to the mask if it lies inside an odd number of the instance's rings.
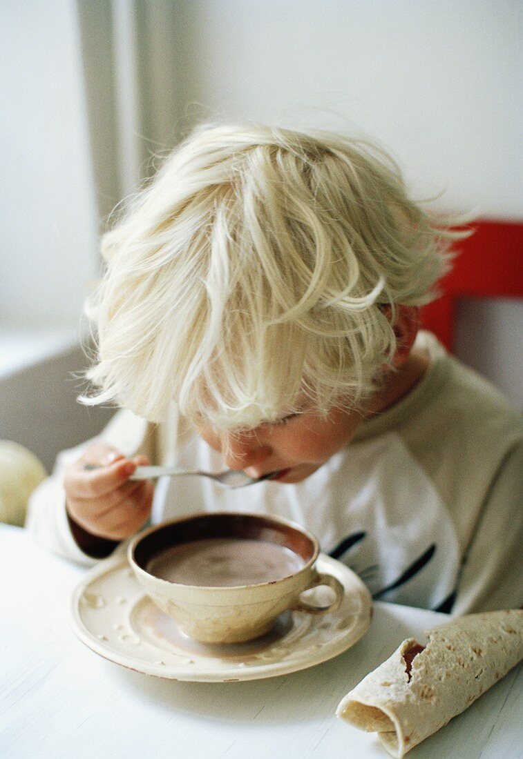
[{"label": "thin oval rim around the top of the cream cup", "polygon": [[[283,527],[287,527],[292,529],[293,531],[296,531],[300,533],[303,537],[306,537],[307,540],[311,543],[312,546],[312,554],[310,559],[306,561],[306,563],[301,567],[297,572],[293,572],[290,575],[286,575],[283,578],[278,578],[277,580],[270,580],[267,582],[260,582],[260,583],[251,583],[247,585],[189,585],[185,583],[179,583],[179,582],[171,582],[170,580],[165,580],[163,578],[157,577],[157,575],[152,575],[151,572],[147,572],[147,569],[142,567],[140,564],[138,564],[138,561],[135,559],[135,551],[141,543],[142,540],[146,539],[150,534],[153,534],[154,532],[159,532],[163,529],[168,529],[173,527],[176,524],[179,524],[181,522],[185,521],[196,521],[199,518],[219,518],[219,517],[239,517],[239,518],[254,518],[255,520],[265,520],[269,522],[274,522],[276,524],[281,524]],[[255,539],[254,539],[255,540]],[[190,542],[190,541],[185,541]],[[182,544],[182,543],[181,543]],[[160,553],[160,552],[158,552]],[[306,528],[303,528],[301,524],[298,524],[297,522],[294,522],[290,519],[278,516],[278,515],[272,515],[267,513],[256,513],[256,512],[234,512],[234,511],[226,511],[222,510],[219,512],[192,512],[191,514],[186,514],[181,517],[176,517],[173,519],[169,519],[166,521],[159,522],[158,524],[151,524],[150,527],[145,528],[141,532],[135,535],[135,537],[132,538],[131,542],[128,545],[127,549],[127,558],[128,562],[133,568],[135,572],[138,572],[142,577],[147,578],[149,581],[154,581],[155,583],[159,584],[159,587],[183,587],[187,589],[194,588],[195,591],[213,591],[216,594],[226,594],[230,591],[239,590],[241,588],[255,588],[255,587],[269,587],[274,584],[283,583],[284,581],[294,580],[294,578],[300,577],[304,572],[308,572],[309,569],[315,564],[319,556],[319,542],[318,539],[313,535],[311,532],[309,532]]]}]

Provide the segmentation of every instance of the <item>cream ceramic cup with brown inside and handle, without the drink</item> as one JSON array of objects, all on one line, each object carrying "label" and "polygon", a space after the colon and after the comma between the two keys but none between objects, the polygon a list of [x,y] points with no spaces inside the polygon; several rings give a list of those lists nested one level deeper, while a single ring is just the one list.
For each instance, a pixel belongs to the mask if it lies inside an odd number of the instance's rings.
[{"label": "cream ceramic cup with brown inside and handle, without the drink", "polygon": [[[150,562],[183,543],[210,538],[261,540],[284,546],[301,567],[273,581],[214,587],[170,582],[147,572]],[[234,512],[201,513],[163,522],[138,534],[128,546],[128,561],[151,600],[171,616],[185,635],[201,643],[242,643],[265,635],[279,614],[295,609],[325,614],[344,596],[343,585],[315,568],[319,545],[315,537],[283,518]],[[315,606],[300,598],[303,591],[326,585],[335,599]]]}]

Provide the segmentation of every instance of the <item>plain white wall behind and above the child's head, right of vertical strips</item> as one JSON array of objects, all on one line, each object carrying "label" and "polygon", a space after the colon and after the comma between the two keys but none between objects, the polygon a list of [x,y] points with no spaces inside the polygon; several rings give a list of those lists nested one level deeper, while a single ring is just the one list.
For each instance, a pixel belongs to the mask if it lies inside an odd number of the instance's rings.
[{"label": "plain white wall behind and above the child's head, right of vertical strips", "polygon": [[514,0],[184,0],[186,108],[363,131],[416,194],[523,216]]}]

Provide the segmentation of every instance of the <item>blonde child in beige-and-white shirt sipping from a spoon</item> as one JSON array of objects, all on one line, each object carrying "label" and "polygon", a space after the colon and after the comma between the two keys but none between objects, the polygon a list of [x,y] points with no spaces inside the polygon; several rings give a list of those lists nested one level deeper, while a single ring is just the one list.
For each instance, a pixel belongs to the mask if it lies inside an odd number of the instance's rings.
[{"label": "blonde child in beige-and-white shirt sipping from a spoon", "polygon": [[[29,527],[71,559],[148,518],[290,518],[376,599],[521,604],[521,419],[418,332],[464,235],[376,148],[280,128],[195,131],[103,238],[98,391],[119,411],[59,457]],[[158,464],[252,477],[128,480]],[[86,465],[97,468],[86,469]]]}]

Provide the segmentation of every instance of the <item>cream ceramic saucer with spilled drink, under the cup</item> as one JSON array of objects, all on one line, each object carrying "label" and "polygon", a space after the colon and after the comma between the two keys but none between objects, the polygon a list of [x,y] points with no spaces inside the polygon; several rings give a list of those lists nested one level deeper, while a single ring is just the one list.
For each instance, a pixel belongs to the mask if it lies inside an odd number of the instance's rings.
[{"label": "cream ceramic saucer with spilled drink, under the cup", "polygon": [[372,602],[360,578],[324,554],[317,568],[344,585],[338,611],[284,613],[268,635],[249,643],[204,645],[187,638],[144,594],[122,557],[98,565],[78,585],[72,625],[95,653],[146,675],[201,682],[285,675],[337,656],[360,640],[370,625]]}]

